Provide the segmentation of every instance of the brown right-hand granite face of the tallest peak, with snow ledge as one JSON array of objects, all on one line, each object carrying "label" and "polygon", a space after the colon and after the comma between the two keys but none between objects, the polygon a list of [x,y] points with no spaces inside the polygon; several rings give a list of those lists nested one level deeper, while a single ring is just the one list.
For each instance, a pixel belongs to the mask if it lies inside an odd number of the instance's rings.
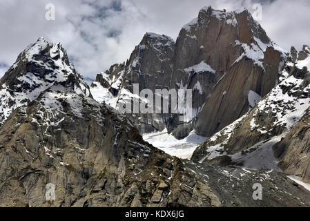
[{"label": "brown right-hand granite face of the tallest peak, with snow ledge", "polygon": [[208,8],[200,11],[197,22],[200,20],[207,23],[203,32],[207,62],[224,72],[195,126],[197,133],[210,137],[249,111],[251,93],[255,97],[269,93],[277,84],[283,55],[247,10],[218,12]]}]

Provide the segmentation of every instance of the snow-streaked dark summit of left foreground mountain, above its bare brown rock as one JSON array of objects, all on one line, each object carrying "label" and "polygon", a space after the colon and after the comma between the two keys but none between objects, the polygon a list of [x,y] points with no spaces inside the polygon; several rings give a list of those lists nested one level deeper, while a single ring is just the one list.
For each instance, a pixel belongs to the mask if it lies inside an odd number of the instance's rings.
[{"label": "snow-streaked dark summit of left foreground mountain, above its bare brown rock", "polygon": [[30,44],[0,79],[0,126],[15,108],[66,81],[70,81],[77,94],[91,96],[88,85],[70,64],[60,43],[51,44],[41,37]]}]

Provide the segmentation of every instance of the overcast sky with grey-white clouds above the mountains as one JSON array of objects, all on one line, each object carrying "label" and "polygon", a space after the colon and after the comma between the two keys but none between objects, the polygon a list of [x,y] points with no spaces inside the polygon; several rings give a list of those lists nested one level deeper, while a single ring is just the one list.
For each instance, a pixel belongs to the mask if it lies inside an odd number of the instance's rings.
[{"label": "overcast sky with grey-white clouds above the mountains", "polygon": [[[46,4],[55,21],[46,20]],[[39,37],[66,48],[84,77],[95,78],[112,64],[126,61],[145,32],[177,38],[182,26],[203,6],[254,12],[267,35],[285,50],[310,45],[310,1],[300,0],[0,0],[0,77],[17,55]]]}]

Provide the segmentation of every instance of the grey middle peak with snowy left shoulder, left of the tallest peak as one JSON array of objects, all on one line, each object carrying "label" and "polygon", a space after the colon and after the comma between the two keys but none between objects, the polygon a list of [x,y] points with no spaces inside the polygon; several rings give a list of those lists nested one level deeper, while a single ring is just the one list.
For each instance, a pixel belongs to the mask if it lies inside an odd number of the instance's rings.
[{"label": "grey middle peak with snowy left shoulder, left of the tallest peak", "polygon": [[[106,102],[119,110],[119,106],[133,97],[139,102],[146,104],[145,97],[139,97],[141,90],[155,90],[169,88],[168,75],[173,70],[173,53],[175,42],[166,35],[146,33],[142,41],[130,55],[126,64],[115,64],[106,73],[99,73],[90,90],[98,102]],[[139,84],[137,93],[133,91],[133,84]],[[128,113],[140,133],[162,131],[169,119],[168,114],[156,114],[155,106],[152,105],[153,113]],[[130,108],[131,110],[132,108]]]}]

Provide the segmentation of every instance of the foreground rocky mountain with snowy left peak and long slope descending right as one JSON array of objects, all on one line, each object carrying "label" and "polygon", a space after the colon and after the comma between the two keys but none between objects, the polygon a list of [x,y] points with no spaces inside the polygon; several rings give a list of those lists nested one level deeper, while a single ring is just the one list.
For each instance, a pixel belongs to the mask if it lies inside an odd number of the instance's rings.
[{"label": "foreground rocky mountain with snowy left peak and long slope descending right", "polygon": [[[0,127],[1,206],[310,206],[309,192],[276,171],[216,169],[144,142],[62,52],[39,39],[1,79],[12,104]],[[264,200],[252,198],[255,181],[270,190]]]}]

